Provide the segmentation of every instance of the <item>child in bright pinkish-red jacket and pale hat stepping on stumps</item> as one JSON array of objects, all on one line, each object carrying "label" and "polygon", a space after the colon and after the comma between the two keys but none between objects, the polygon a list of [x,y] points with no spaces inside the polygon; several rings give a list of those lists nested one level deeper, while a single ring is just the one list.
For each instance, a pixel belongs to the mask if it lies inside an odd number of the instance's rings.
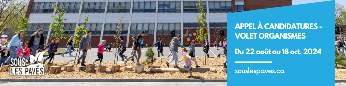
[{"label": "child in bright pinkish-red jacket and pale hat stepping on stumps", "polygon": [[96,61],[100,61],[99,67],[102,67],[102,65],[101,65],[101,62],[102,62],[102,59],[103,59],[103,54],[102,53],[104,51],[107,51],[106,49],[104,49],[104,44],[106,44],[106,40],[102,40],[101,44],[97,45],[97,47],[99,48],[99,50],[97,51],[98,59],[93,60],[92,61],[92,65],[94,65]]}]

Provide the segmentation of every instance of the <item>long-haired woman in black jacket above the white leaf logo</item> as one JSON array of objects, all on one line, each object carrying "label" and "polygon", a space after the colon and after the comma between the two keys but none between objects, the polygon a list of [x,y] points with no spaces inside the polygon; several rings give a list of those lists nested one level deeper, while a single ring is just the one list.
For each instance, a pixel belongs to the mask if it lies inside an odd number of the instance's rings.
[{"label": "long-haired woman in black jacket above the white leaf logo", "polygon": [[[38,29],[33,35],[31,35],[29,44],[28,44],[28,49],[31,49],[30,55],[33,55],[33,56],[36,55],[36,51],[39,45],[46,46],[45,44],[46,40],[44,39],[42,32],[43,32],[42,29]],[[28,60],[30,60],[30,57]]]}]

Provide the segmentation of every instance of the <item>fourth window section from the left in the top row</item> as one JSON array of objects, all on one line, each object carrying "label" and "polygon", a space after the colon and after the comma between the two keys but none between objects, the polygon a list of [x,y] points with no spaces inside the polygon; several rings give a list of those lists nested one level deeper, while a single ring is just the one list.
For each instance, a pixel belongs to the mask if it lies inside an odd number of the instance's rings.
[{"label": "fourth window section from the left in the top row", "polygon": [[108,2],[107,13],[130,13],[131,2]]}]

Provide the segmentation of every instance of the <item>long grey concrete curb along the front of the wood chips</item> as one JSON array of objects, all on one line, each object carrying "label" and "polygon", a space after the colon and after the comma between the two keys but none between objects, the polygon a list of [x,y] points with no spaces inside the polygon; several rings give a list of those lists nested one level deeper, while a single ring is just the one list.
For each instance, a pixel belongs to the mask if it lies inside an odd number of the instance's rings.
[{"label": "long grey concrete curb along the front of the wood chips", "polygon": [[[39,79],[0,79],[0,82],[225,82],[227,79],[88,79],[88,78],[39,78]],[[337,80],[335,80],[336,82]],[[344,80],[346,81],[346,80]]]}]

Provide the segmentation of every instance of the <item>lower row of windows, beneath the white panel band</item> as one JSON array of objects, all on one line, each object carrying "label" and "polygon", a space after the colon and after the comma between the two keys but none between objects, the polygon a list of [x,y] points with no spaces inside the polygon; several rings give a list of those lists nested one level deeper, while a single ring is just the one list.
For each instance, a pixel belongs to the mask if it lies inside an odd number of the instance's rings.
[{"label": "lower row of windows, beneath the white panel band", "polygon": [[[117,26],[122,29],[119,35],[127,35],[128,23],[105,23],[103,35],[116,35]],[[43,29],[43,34],[47,35],[49,30],[49,23],[29,24],[27,27],[27,35],[34,34],[38,29]],[[74,35],[76,24],[64,23],[63,29],[65,35]],[[84,28],[92,31],[92,35],[101,35],[102,23],[80,23],[79,26],[84,25]],[[184,23],[184,28],[197,28],[199,23]],[[227,28],[227,23],[210,23],[210,28]],[[130,35],[139,34],[142,30],[146,31],[148,35],[154,35],[155,23],[131,23]],[[175,30],[176,34],[181,32],[181,23],[157,23],[156,35],[169,35],[171,30]],[[51,33],[54,33],[52,31]],[[81,34],[80,32],[79,34]]]}]

